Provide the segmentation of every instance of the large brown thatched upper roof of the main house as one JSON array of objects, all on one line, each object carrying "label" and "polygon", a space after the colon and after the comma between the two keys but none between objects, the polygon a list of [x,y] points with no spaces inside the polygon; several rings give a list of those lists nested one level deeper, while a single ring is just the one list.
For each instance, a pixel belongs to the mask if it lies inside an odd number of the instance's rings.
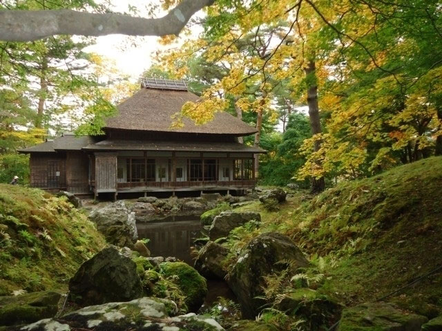
[{"label": "large brown thatched upper roof of the main house", "polygon": [[184,127],[171,129],[173,114],[181,111],[186,101],[197,101],[198,96],[186,90],[141,88],[132,97],[120,103],[119,114],[106,121],[105,128],[148,130],[157,132],[191,132],[205,134],[233,134],[246,136],[256,129],[227,112],[217,112],[215,119],[201,126],[185,118]]}]

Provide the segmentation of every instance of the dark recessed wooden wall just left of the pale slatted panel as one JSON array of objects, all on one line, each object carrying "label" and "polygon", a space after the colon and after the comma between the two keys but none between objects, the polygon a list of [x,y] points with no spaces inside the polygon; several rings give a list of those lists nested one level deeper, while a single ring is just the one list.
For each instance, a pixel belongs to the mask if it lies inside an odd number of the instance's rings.
[{"label": "dark recessed wooden wall just left of the pale slatted panel", "polygon": [[84,152],[66,152],[66,181],[72,193],[90,193],[89,157]]}]

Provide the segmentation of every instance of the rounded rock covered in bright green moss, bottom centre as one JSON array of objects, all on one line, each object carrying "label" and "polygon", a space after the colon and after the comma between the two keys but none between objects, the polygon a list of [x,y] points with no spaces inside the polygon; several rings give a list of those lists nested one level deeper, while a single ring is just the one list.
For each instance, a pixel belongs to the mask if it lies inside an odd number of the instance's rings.
[{"label": "rounded rock covered in bright green moss, bottom centre", "polygon": [[187,308],[196,312],[207,294],[206,279],[184,262],[164,262],[160,264],[160,269],[164,277],[173,277],[177,287],[186,295]]}]

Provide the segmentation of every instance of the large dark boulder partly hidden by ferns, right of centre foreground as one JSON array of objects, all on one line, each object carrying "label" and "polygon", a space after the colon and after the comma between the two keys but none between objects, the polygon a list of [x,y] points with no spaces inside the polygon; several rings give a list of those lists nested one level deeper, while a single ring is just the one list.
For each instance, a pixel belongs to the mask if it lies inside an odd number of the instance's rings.
[{"label": "large dark boulder partly hidden by ferns, right of centre foreground", "polygon": [[242,248],[229,274],[229,286],[238,297],[244,319],[254,319],[260,312],[264,302],[256,297],[264,294],[263,277],[287,268],[287,265],[278,263],[283,260],[290,261],[292,272],[308,265],[295,243],[278,232],[260,234]]}]

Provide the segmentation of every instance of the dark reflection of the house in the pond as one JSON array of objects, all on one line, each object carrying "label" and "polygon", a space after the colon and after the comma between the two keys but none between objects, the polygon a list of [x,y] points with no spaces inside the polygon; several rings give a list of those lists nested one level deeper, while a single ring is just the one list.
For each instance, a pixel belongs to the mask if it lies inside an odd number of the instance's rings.
[{"label": "dark reflection of the house in the pond", "polygon": [[153,257],[177,257],[192,264],[190,247],[193,239],[199,237],[200,220],[166,221],[160,223],[137,224],[138,238],[148,238],[148,244]]}]

